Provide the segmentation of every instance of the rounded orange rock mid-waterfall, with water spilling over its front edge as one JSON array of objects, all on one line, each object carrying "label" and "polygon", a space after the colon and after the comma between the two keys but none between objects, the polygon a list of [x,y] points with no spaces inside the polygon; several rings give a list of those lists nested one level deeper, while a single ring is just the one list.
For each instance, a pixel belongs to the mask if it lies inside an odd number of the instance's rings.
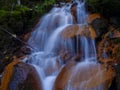
[{"label": "rounded orange rock mid-waterfall, with water spilling over its front edge", "polygon": [[62,32],[61,36],[65,39],[74,38],[77,36],[86,36],[94,39],[96,37],[96,33],[92,26],[85,26],[85,25],[70,25],[66,27]]}]

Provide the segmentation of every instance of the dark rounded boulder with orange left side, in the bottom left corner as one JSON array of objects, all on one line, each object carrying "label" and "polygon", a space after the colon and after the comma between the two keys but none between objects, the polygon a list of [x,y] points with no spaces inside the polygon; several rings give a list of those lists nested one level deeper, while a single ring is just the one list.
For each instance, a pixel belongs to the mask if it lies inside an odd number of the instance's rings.
[{"label": "dark rounded boulder with orange left side, in the bottom left corner", "polygon": [[1,90],[42,90],[42,87],[34,67],[13,61],[4,71]]}]

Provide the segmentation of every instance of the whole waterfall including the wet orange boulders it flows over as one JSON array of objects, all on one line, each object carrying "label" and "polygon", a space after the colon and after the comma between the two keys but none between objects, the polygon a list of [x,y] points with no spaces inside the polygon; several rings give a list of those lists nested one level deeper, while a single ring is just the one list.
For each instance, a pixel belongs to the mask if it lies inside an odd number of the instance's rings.
[{"label": "whole waterfall including the wet orange boulders it flows over", "polygon": [[[73,5],[76,16],[71,14]],[[95,41],[88,33],[87,16],[85,2],[74,0],[73,4],[54,7],[32,32],[28,43],[35,50],[29,63],[36,68],[44,90],[106,90],[107,79],[102,79],[105,70],[96,63]],[[66,36],[64,31],[74,27],[74,18],[78,29],[73,28],[74,35]],[[69,53],[68,62],[61,58],[65,52]],[[76,55],[79,62],[73,58]]]}]

